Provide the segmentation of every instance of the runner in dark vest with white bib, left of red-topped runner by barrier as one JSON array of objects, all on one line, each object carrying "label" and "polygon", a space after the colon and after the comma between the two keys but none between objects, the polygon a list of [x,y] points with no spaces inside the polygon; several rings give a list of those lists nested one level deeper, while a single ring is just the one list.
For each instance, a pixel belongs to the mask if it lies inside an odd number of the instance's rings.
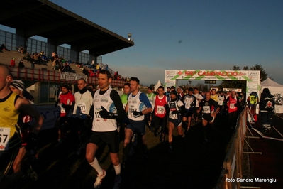
[{"label": "runner in dark vest with white bib, left of red-topped runner by barrier", "polygon": [[203,126],[203,131],[204,131],[203,144],[206,144],[207,143],[206,126],[207,124],[213,124],[216,114],[219,112],[219,107],[217,105],[217,102],[211,99],[210,92],[206,92],[206,98],[201,100],[201,104],[199,104],[199,110],[197,112],[199,113],[201,112],[201,110],[203,114],[202,116],[202,126]]}]

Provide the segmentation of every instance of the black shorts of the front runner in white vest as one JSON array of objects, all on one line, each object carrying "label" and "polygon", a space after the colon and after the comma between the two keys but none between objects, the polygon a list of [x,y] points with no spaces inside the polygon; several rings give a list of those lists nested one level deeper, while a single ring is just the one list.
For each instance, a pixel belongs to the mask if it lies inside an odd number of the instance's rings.
[{"label": "black shorts of the front runner in white vest", "polygon": [[118,131],[96,132],[92,131],[89,142],[99,146],[99,143],[104,141],[109,147],[110,153],[119,152]]}]

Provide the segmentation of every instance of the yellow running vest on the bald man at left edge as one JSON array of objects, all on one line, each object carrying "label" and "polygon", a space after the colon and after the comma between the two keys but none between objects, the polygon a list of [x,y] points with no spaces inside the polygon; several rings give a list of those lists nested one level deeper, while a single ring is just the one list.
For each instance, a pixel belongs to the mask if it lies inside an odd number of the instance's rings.
[{"label": "yellow running vest on the bald man at left edge", "polygon": [[[20,112],[15,109],[16,97],[17,94],[11,92],[6,98],[0,99],[0,128],[10,128],[9,149],[21,144],[21,135],[17,124]],[[11,138],[13,139],[11,140]]]}]

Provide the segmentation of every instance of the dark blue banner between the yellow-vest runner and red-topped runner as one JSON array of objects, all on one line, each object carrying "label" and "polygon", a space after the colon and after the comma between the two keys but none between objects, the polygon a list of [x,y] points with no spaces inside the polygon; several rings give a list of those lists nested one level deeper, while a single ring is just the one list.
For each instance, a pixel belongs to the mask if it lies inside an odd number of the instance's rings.
[{"label": "dark blue banner between the yellow-vest runner and red-topped runner", "polygon": [[60,115],[60,107],[54,107],[54,105],[38,106],[37,109],[44,117],[43,127],[41,130],[53,128],[55,126],[55,121]]}]

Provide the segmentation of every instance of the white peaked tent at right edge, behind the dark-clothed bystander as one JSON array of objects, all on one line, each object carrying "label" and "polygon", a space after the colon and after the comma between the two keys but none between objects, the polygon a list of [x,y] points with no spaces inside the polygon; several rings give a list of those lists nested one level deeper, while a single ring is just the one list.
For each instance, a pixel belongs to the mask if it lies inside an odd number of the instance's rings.
[{"label": "white peaked tent at right edge, behind the dark-clothed bystander", "polygon": [[275,97],[275,112],[279,114],[283,113],[283,85],[267,78],[261,82],[261,92],[264,88],[268,88],[270,93]]}]

